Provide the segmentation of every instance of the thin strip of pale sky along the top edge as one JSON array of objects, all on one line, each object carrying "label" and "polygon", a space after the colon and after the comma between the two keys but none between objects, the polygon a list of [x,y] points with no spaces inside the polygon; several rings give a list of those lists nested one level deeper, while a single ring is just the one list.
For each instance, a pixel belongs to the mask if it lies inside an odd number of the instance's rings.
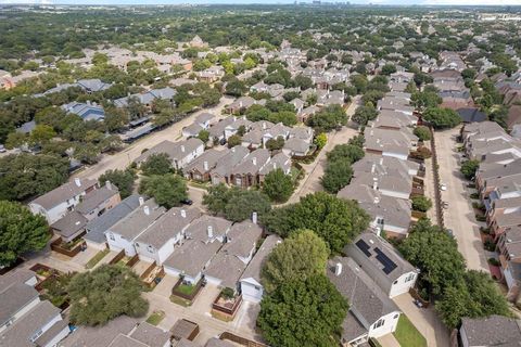
[{"label": "thin strip of pale sky along the top edge", "polygon": [[[303,1],[303,0],[297,0]],[[386,5],[521,5],[521,0],[322,0],[329,2],[351,1],[356,4]],[[0,0],[5,3],[56,3],[56,4],[179,4],[179,3],[293,3],[294,0]],[[304,0],[312,2],[312,0]]]}]

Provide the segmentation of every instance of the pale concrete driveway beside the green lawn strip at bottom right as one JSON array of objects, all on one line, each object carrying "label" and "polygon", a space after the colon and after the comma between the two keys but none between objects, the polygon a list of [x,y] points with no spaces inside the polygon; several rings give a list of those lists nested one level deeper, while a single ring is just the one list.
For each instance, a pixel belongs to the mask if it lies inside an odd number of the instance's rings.
[{"label": "pale concrete driveway beside the green lawn strip at bottom right", "polygon": [[448,329],[442,323],[434,309],[432,307],[418,308],[414,300],[409,293],[393,298],[396,306],[425,337],[429,347],[450,346]]}]

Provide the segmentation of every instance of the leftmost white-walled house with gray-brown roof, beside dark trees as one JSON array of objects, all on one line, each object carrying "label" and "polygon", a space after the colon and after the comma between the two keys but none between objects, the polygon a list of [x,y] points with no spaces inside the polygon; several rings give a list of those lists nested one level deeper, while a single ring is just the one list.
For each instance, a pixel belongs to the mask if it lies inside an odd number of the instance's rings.
[{"label": "leftmost white-walled house with gray-brown roof, beside dark trees", "polygon": [[82,196],[97,188],[97,180],[75,178],[72,182],[64,183],[31,201],[29,209],[35,215],[46,217],[52,224],[67,211],[73,210],[81,202]]}]

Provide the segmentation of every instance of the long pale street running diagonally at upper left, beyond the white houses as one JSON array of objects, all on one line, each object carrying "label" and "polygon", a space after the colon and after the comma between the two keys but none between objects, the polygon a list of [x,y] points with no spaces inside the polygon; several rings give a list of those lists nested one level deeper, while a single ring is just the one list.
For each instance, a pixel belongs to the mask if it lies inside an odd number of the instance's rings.
[{"label": "long pale street running diagonally at upper left, beyond the white houses", "polygon": [[114,170],[114,169],[124,169],[126,168],[134,159],[141,155],[141,152],[145,149],[151,149],[152,146],[156,145],[157,143],[169,140],[169,141],[178,141],[182,138],[181,131],[182,128],[191,125],[196,116],[201,113],[209,112],[217,116],[217,119],[223,118],[221,112],[226,105],[230,104],[234,99],[229,97],[223,97],[220,102],[212,108],[204,108],[198,111],[187,118],[173,124],[166,129],[161,131],[153,132],[143,139],[140,139],[132,144],[130,144],[125,150],[117,152],[114,155],[104,155],[101,160],[87,167],[86,169],[73,175],[71,179],[75,177],[80,178],[90,178],[90,179],[98,179],[103,172],[106,170]]}]

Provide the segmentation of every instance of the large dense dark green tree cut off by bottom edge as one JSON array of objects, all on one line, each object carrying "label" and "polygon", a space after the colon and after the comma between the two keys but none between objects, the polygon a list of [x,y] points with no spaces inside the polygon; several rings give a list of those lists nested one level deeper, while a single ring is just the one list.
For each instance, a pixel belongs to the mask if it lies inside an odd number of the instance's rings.
[{"label": "large dense dark green tree cut off by bottom edge", "polygon": [[271,346],[333,347],[340,344],[347,301],[323,275],[282,284],[263,298],[257,325]]}]

